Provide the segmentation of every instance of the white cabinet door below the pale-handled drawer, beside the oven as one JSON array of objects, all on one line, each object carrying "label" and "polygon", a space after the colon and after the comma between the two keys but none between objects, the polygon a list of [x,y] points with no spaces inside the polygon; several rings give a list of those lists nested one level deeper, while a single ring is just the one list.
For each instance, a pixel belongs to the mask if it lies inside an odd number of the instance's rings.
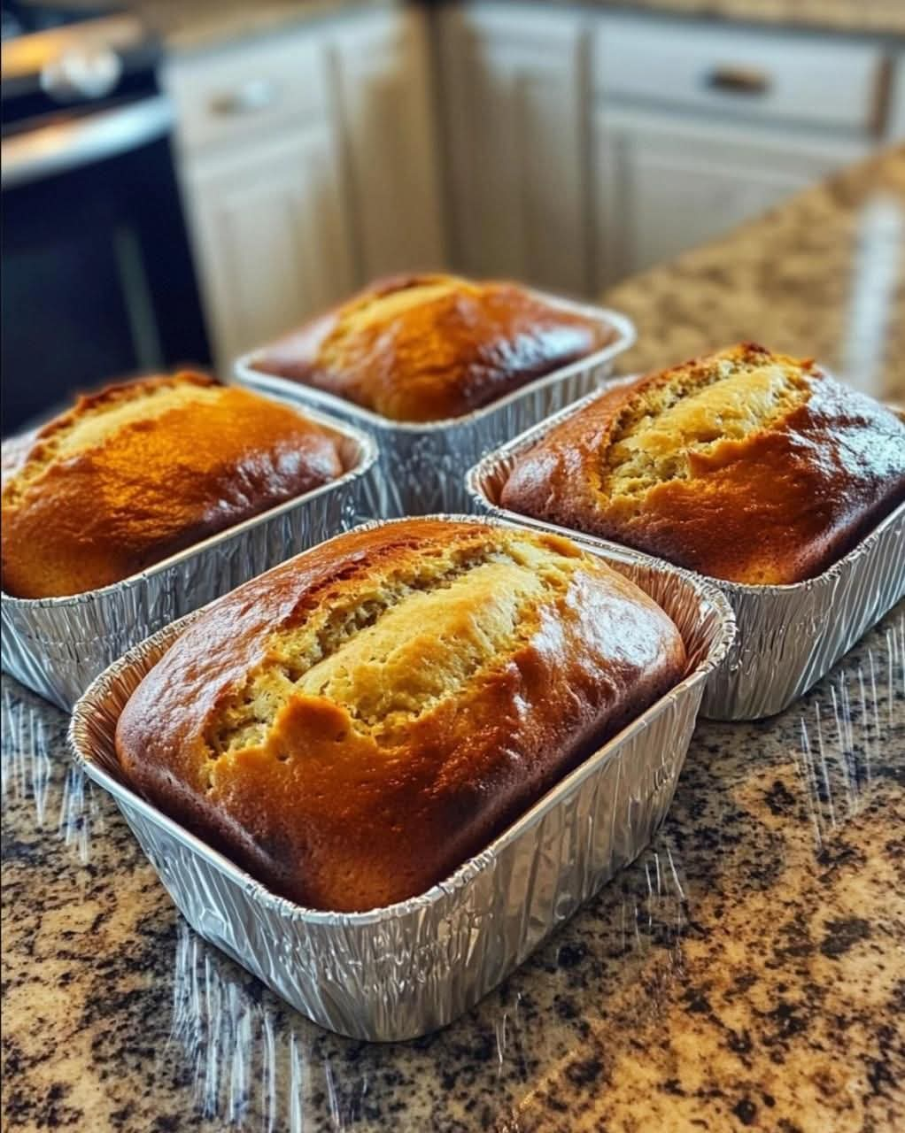
[{"label": "white cabinet door below the pale-handled drawer, beside the oven", "polygon": [[348,293],[332,133],[290,135],[188,164],[184,174],[214,355],[235,357]]}]

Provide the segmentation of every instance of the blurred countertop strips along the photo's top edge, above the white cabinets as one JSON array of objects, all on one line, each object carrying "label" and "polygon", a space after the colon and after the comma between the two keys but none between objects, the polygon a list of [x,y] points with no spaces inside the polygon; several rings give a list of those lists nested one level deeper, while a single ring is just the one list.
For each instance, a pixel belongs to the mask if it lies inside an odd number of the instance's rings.
[{"label": "blurred countertop strips along the photo's top edge, above the white cabinets", "polygon": [[[70,0],[71,2],[71,0]],[[84,2],[84,0],[76,0]],[[354,8],[399,6],[404,0],[133,0],[175,51],[195,51],[267,34]],[[548,0],[550,3],[563,0]],[[582,0],[565,0],[581,6]],[[775,24],[836,32],[905,34],[900,0],[584,0],[587,8]]]}]

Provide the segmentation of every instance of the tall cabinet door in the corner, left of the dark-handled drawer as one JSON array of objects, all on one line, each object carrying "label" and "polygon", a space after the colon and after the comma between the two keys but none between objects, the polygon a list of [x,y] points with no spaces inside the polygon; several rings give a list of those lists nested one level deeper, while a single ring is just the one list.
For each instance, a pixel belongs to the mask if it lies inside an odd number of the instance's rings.
[{"label": "tall cabinet door in the corner, left of the dark-handled drawer", "polygon": [[440,36],[462,267],[584,292],[582,16],[463,5]]}]

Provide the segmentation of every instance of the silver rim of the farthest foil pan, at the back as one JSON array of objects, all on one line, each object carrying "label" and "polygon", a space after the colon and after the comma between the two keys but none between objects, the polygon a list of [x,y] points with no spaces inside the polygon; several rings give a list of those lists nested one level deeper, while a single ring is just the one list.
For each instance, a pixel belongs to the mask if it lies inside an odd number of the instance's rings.
[{"label": "silver rim of the farthest foil pan, at the back", "polygon": [[[577,374],[591,366],[599,366],[601,363],[609,361],[611,358],[615,358],[617,355],[627,350],[637,338],[635,324],[631,318],[628,318],[627,315],[623,315],[618,310],[612,310],[609,307],[597,307],[592,304],[573,303],[572,300],[564,299],[560,296],[549,295],[545,291],[535,291],[533,289],[528,289],[528,295],[538,299],[542,299],[544,303],[559,307],[563,310],[590,316],[595,318],[598,322],[607,323],[618,332],[618,338],[616,338],[612,342],[607,343],[607,346],[602,347],[600,350],[585,355],[584,358],[578,358],[575,361],[569,363],[568,366],[561,366],[559,369],[555,369],[550,374],[541,374],[540,377],[535,377],[525,385],[521,385],[517,390],[513,390],[510,393],[507,393],[506,397],[499,398],[497,401],[491,401],[487,406],[481,406],[480,409],[475,409],[471,414],[464,414],[462,417],[446,417],[443,420],[438,421],[392,420],[390,417],[383,417],[382,414],[375,414],[372,409],[365,409],[363,406],[357,406],[354,401],[347,401],[345,398],[337,397],[335,393],[328,393],[327,391],[319,390],[313,385],[306,385],[304,382],[295,382],[289,377],[281,377],[278,374],[269,374],[267,370],[256,369],[253,364],[257,359],[259,355],[269,349],[268,346],[257,347],[255,350],[251,350],[248,353],[242,355],[242,357],[237,358],[234,364],[234,373],[238,381],[240,381],[244,385],[252,385],[254,389],[267,390],[282,397],[289,397],[291,391],[303,390],[306,402],[312,401],[316,403],[324,412],[328,414],[331,411],[348,414],[349,417],[355,418],[355,420],[362,426],[390,433],[437,433],[473,425],[476,421],[480,421],[483,417],[489,416],[491,412],[504,409],[506,406],[518,401],[519,398],[534,393],[538,390],[543,390],[548,385],[561,382],[565,378],[570,377],[573,374]],[[296,394],[296,397],[298,397],[298,394]]]}]

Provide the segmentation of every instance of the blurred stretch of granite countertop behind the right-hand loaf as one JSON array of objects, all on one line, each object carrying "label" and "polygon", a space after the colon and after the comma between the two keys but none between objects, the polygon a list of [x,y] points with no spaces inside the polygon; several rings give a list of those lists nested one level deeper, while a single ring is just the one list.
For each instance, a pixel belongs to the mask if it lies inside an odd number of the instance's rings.
[{"label": "blurred stretch of granite countertop behind the right-hand loaf", "polygon": [[[905,6],[903,6],[905,9]],[[809,353],[905,404],[905,147],[609,290],[637,326],[623,373],[741,340]]]}]

